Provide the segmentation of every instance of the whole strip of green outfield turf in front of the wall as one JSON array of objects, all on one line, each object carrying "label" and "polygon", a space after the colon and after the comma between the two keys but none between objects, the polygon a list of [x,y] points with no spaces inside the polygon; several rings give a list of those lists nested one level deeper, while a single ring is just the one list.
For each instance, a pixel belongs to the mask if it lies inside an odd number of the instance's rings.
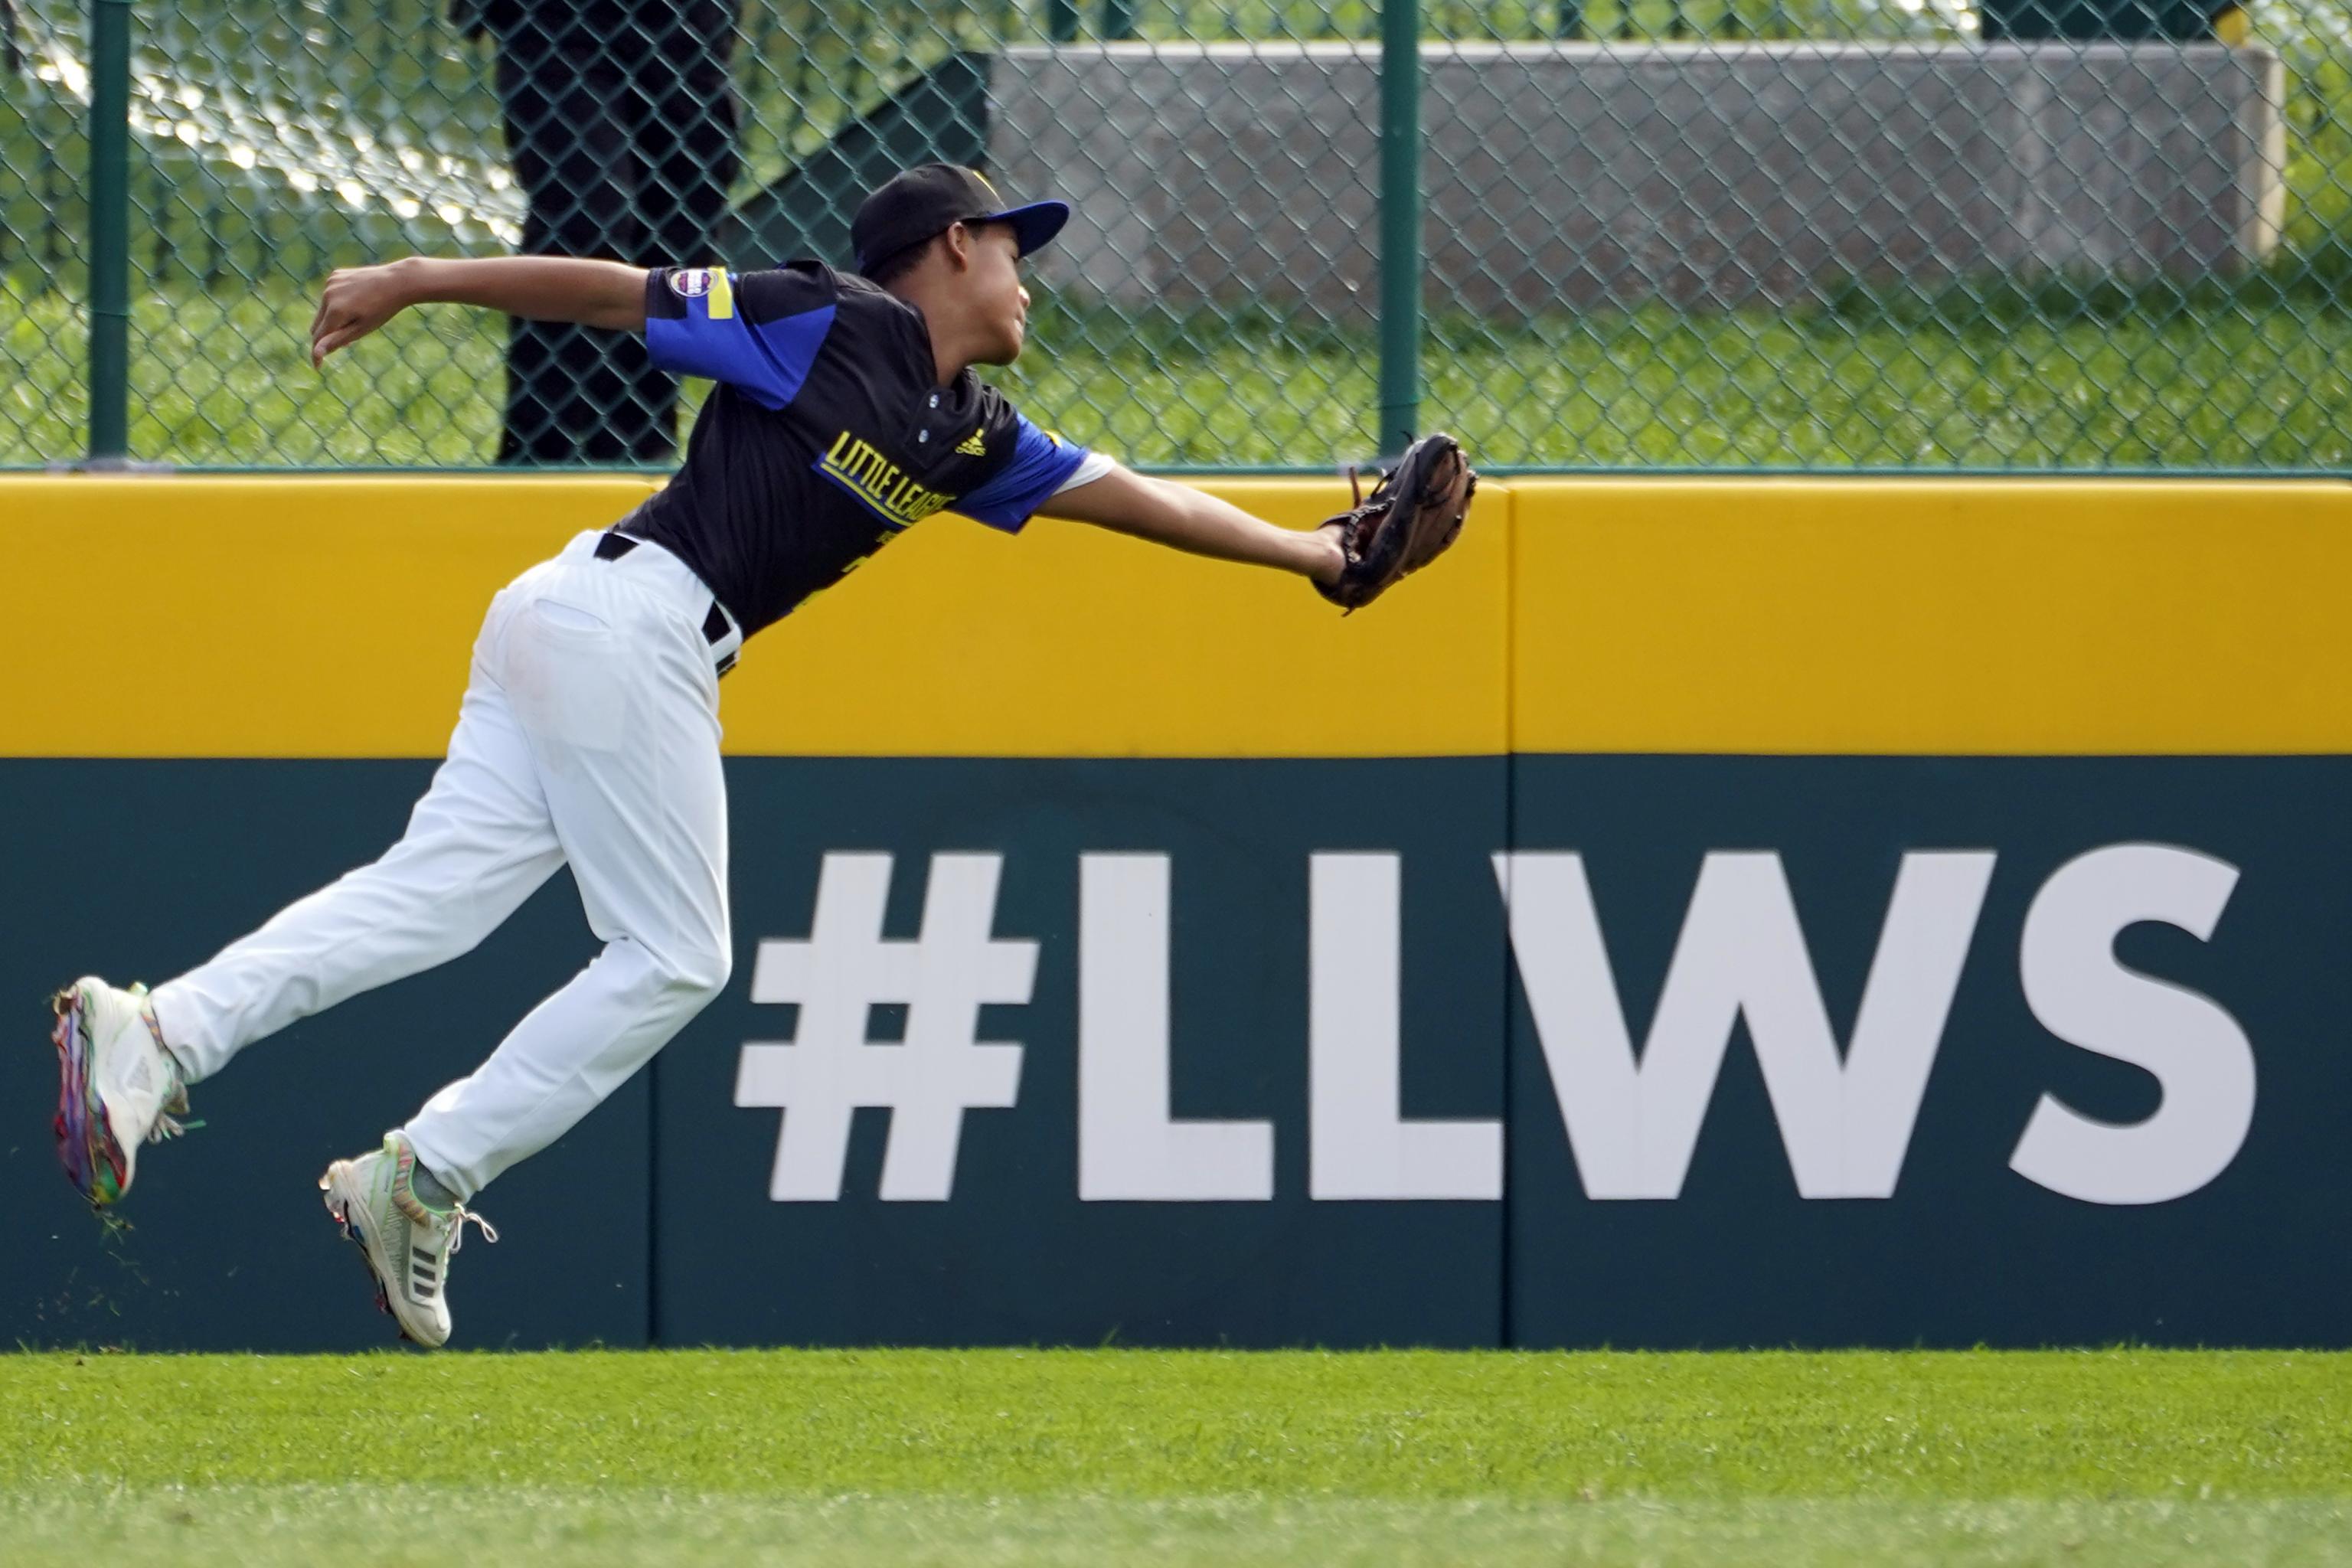
[{"label": "whole strip of green outfield turf in front of the wall", "polygon": [[2352,1563],[2352,1356],[0,1356],[0,1559]]}]

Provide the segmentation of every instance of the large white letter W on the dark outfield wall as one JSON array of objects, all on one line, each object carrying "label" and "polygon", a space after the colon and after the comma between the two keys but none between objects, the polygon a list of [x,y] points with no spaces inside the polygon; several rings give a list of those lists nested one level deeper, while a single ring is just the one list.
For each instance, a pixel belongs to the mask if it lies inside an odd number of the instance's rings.
[{"label": "large white letter W on the dark outfield wall", "polygon": [[1743,1016],[1797,1192],[1893,1197],[1992,851],[1903,856],[1844,1058],[1778,853],[1708,853],[1639,1060],[1583,856],[1498,853],[1494,872],[1588,1197],[1682,1194]]}]

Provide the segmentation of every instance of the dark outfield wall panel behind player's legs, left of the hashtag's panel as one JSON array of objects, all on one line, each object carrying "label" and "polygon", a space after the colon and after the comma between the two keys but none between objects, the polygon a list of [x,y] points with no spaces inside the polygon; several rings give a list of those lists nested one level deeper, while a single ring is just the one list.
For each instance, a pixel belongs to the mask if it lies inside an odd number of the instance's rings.
[{"label": "dark outfield wall panel behind player's legs, left of the hashtag's panel", "polygon": [[[42,1001],[85,971],[162,980],[200,964],[374,858],[430,773],[426,762],[0,762],[14,889],[0,997],[19,1037],[0,1053],[0,1333],[188,1349],[388,1338],[318,1175],[470,1070],[581,966],[593,938],[567,875],[461,964],[294,1025],[205,1084],[209,1126],[146,1150],[111,1225],[56,1168]],[[461,1302],[466,1342],[644,1342],[647,1103],[642,1079],[626,1086],[499,1187],[539,1218],[466,1248],[480,1279]]]}]

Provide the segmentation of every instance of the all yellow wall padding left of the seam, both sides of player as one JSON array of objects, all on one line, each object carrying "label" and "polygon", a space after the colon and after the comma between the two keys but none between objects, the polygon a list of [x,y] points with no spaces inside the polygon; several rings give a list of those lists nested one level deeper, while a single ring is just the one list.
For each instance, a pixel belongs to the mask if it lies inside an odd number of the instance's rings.
[{"label": "all yellow wall padding left of the seam, both sides of player", "polygon": [[[437,757],[489,597],[633,477],[0,477],[24,583],[0,755]],[[1282,524],[1338,482],[1207,489]],[[1510,496],[1341,618],[1298,578],[936,517],[743,654],[734,755],[1350,757],[1505,748]],[[52,609],[54,607],[54,609]]]}]

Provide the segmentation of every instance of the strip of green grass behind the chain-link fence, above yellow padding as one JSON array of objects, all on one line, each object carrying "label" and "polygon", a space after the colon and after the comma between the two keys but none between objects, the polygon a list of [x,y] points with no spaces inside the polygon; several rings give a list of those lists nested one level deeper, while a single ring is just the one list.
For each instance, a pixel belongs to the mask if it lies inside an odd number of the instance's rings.
[{"label": "strip of green grass behind the chain-link fence, above yellow padding", "polygon": [[[9,292],[14,289],[14,292]],[[82,451],[82,313],[0,284],[0,465]],[[183,465],[480,465],[503,324],[433,308],[308,367],[310,299],[151,294],[132,320],[132,451]],[[1428,423],[1541,465],[2343,468],[2352,310],[2328,289],[1853,296],[1435,322]],[[1329,470],[1371,447],[1364,334],[1268,313],[1068,310],[1007,390],[1134,463]]]}]

